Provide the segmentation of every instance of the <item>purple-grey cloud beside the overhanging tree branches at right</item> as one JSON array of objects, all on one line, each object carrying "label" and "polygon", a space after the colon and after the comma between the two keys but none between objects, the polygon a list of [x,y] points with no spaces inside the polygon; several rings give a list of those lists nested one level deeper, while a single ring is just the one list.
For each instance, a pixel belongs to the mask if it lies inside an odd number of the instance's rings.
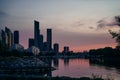
[{"label": "purple-grey cloud beside the overhanging tree branches at right", "polygon": [[118,27],[118,25],[120,25],[120,23],[118,23],[115,18],[103,18],[97,22],[97,29],[114,28]]}]

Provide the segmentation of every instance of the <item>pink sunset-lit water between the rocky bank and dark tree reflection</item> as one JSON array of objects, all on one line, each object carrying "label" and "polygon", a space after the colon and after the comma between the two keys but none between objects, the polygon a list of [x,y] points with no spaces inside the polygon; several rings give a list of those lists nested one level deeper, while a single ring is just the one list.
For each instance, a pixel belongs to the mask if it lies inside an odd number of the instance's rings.
[{"label": "pink sunset-lit water between the rocky bank and dark tree reflection", "polygon": [[93,64],[89,59],[54,59],[52,66],[57,68],[52,76],[91,77],[94,74],[120,80],[120,69]]}]

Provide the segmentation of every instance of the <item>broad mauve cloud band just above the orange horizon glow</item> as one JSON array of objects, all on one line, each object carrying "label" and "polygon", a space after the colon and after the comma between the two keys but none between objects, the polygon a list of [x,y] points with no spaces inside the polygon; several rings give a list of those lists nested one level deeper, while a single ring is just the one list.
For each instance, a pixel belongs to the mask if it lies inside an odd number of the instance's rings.
[{"label": "broad mauve cloud band just above the orange horizon glow", "polygon": [[108,33],[75,33],[66,31],[55,31],[54,42],[60,43],[61,46],[85,46],[93,44],[109,44],[112,43],[111,36]]}]

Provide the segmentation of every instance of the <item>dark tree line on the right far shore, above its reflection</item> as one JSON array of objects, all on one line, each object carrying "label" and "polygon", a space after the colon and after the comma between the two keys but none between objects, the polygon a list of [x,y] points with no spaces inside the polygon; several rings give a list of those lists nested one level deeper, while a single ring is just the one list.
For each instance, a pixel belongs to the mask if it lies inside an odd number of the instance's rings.
[{"label": "dark tree line on the right far shore, above its reflection", "polygon": [[89,51],[90,58],[120,58],[120,50],[111,47],[92,49]]}]

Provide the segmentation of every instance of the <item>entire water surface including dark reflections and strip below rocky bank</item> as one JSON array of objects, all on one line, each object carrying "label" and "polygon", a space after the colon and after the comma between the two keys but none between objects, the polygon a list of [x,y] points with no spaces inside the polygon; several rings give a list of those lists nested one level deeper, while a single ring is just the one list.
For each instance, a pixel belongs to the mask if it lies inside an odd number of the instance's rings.
[{"label": "entire water surface including dark reflections and strip below rocky bank", "polygon": [[[56,68],[54,71],[49,71],[45,74],[30,72],[29,75],[26,73],[13,74],[12,76],[21,77],[39,77],[39,76],[68,76],[68,77],[92,77],[92,74],[102,76],[103,78],[111,78],[114,80],[120,80],[120,61],[110,60],[89,60],[89,59],[59,59],[59,58],[40,58],[42,61]],[[117,62],[118,61],[118,62]],[[35,71],[34,71],[35,72]],[[8,74],[1,74],[1,76],[8,76]],[[10,72],[9,72],[10,73]],[[13,73],[13,72],[12,72]]]}]

